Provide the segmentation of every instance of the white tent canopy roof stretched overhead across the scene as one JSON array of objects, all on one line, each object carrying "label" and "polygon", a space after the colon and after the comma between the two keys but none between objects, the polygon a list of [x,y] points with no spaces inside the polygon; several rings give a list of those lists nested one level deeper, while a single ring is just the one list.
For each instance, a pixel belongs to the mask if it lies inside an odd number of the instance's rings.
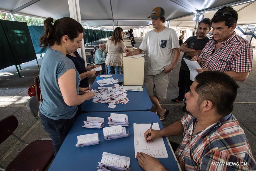
[{"label": "white tent canopy roof stretched overhead across the scene", "polygon": [[[114,27],[123,29],[151,25],[147,17],[158,6],[165,9],[170,26],[193,28],[195,13],[205,12],[204,18],[212,18],[224,5],[241,9],[238,24],[256,23],[255,0],[79,0],[82,24],[101,29],[113,29],[113,21]],[[68,0],[1,0],[0,10],[42,18],[70,16]]]}]

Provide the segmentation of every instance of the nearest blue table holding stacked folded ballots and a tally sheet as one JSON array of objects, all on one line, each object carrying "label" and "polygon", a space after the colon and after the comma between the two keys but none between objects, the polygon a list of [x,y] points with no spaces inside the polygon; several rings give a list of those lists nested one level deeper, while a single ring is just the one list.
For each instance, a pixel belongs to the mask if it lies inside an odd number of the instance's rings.
[{"label": "nearest blue table holding stacked folded ballots and a tally sheet", "polygon": [[[127,114],[129,126],[126,127],[126,132],[130,131],[128,137],[104,140],[103,128],[82,128],[84,125],[83,120],[86,120],[86,116],[103,117],[104,126],[108,126],[108,116],[110,112],[91,112],[84,113],[78,116],[73,124],[71,130],[67,134],[59,152],[54,158],[49,171],[70,171],[70,170],[97,170],[98,162],[101,162],[103,152],[117,154],[120,156],[130,157],[130,168],[132,170],[142,170],[138,165],[138,161],[134,156],[134,130],[133,123],[151,123],[158,122],[160,129],[163,128],[162,123],[158,116],[150,111],[132,111],[132,112],[118,112],[120,114]],[[77,148],[77,136],[84,134],[98,133],[100,144],[85,146]],[[163,137],[165,147],[168,153],[168,158],[157,158],[165,168],[169,170],[179,170],[179,164],[174,155],[169,140]]]}]

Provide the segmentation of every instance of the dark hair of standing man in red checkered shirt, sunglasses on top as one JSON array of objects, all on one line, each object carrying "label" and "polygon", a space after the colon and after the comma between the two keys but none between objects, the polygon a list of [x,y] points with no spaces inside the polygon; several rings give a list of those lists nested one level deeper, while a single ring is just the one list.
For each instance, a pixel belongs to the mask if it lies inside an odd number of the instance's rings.
[{"label": "dark hair of standing man in red checkered shirt, sunglasses on top", "polygon": [[232,7],[228,6],[219,9],[212,17],[211,23],[219,23],[225,21],[225,25],[230,28],[237,22],[237,19],[237,12]]}]

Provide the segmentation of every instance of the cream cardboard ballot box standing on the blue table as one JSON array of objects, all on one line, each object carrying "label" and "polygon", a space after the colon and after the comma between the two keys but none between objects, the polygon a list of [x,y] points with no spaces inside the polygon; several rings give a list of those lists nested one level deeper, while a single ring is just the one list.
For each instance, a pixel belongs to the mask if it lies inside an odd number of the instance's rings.
[{"label": "cream cardboard ballot box standing on the blue table", "polygon": [[143,57],[124,57],[124,85],[143,85],[144,62]]}]

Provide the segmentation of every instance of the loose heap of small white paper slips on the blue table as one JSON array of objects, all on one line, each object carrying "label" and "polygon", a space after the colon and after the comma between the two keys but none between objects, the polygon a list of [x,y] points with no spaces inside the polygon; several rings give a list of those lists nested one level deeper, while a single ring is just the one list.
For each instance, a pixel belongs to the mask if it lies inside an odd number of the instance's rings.
[{"label": "loose heap of small white paper slips on the blue table", "polygon": [[127,91],[119,84],[98,88],[99,90],[93,90],[95,92],[92,100],[94,103],[107,103],[109,104],[108,108],[115,108],[116,104],[127,104],[129,102]]}]

